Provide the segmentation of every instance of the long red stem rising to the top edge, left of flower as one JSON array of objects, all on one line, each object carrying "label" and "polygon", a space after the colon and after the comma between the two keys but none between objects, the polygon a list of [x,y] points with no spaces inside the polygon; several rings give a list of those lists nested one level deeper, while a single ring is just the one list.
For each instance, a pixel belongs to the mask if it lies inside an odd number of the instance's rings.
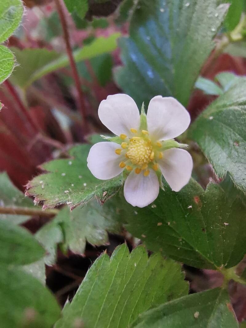
[{"label": "long red stem rising to the top edge, left of flower", "polygon": [[70,44],[70,40],[69,40],[69,32],[68,32],[68,24],[66,21],[66,17],[62,8],[62,5],[60,3],[60,0],[55,0],[55,4],[56,4],[56,8],[58,11],[58,14],[60,16],[60,21],[61,21],[61,25],[62,25],[62,30],[63,30],[63,37],[64,37],[64,41],[66,44],[66,50],[67,50],[67,55],[70,61],[70,66],[72,69],[72,75],[73,75],[73,79],[75,82],[75,86],[77,89],[77,93],[78,93],[78,98],[79,98],[79,109],[80,109],[80,113],[81,116],[84,119],[84,123],[86,121],[86,106],[85,106],[85,99],[84,99],[84,95],[81,89],[81,85],[80,85],[80,79],[79,79],[79,74],[77,71],[77,67],[73,58],[73,54],[72,54],[72,47]]}]

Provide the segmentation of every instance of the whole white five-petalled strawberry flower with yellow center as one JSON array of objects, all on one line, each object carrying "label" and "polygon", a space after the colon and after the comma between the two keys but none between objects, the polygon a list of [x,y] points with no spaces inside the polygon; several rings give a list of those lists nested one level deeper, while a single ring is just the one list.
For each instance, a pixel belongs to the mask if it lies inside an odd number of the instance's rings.
[{"label": "whole white five-petalled strawberry flower with yellow center", "polygon": [[105,141],[93,145],[87,158],[88,168],[102,180],[127,170],[124,196],[128,203],[144,207],[155,200],[160,186],[158,172],[176,192],[189,182],[192,157],[177,148],[182,145],[173,138],[188,128],[190,115],[176,99],[154,97],[146,116],[143,108],[139,114],[130,96],[114,94],[101,102],[98,115],[119,136],[114,138],[118,143]]}]

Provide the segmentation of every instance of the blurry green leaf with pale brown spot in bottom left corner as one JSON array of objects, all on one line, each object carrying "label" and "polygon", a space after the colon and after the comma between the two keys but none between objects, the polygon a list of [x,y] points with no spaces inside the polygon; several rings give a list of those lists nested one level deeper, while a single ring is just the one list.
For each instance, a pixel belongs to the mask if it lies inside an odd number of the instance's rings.
[{"label": "blurry green leaf with pale brown spot in bottom left corner", "polygon": [[17,268],[1,266],[1,326],[4,328],[50,328],[60,316],[60,308],[43,284]]}]

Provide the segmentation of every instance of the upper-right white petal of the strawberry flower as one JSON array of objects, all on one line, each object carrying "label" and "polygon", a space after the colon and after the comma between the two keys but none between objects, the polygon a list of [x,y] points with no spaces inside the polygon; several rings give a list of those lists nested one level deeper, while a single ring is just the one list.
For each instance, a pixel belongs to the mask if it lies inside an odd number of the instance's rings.
[{"label": "upper-right white petal of the strawberry flower", "polygon": [[191,122],[190,114],[173,97],[156,96],[147,112],[150,135],[156,140],[173,139],[183,133]]}]

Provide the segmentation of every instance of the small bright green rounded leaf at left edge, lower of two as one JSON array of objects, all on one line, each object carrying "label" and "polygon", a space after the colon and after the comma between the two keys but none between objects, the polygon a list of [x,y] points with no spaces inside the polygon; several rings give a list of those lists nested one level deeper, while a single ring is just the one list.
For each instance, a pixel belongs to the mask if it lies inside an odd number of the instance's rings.
[{"label": "small bright green rounded leaf at left edge, lower of two", "polygon": [[13,69],[14,55],[8,48],[0,46],[0,84],[10,76]]}]

